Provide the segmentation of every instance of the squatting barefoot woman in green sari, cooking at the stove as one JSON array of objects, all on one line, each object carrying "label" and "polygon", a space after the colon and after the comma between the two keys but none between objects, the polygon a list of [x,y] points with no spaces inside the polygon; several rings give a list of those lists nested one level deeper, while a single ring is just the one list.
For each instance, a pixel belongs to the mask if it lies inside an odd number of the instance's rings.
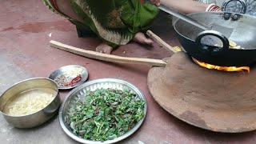
[{"label": "squatting barefoot woman in green sari, cooking at the stove", "polygon": [[[78,30],[92,30],[102,44],[100,53],[110,54],[114,48],[131,40],[150,45],[152,40],[142,33],[158,15],[160,0],[42,0],[55,13],[67,18]],[[184,13],[206,10],[208,5],[194,0],[161,0],[166,6]],[[190,4],[195,7],[191,7]],[[184,5],[185,4],[185,5]],[[183,6],[182,6],[183,5]]]}]

